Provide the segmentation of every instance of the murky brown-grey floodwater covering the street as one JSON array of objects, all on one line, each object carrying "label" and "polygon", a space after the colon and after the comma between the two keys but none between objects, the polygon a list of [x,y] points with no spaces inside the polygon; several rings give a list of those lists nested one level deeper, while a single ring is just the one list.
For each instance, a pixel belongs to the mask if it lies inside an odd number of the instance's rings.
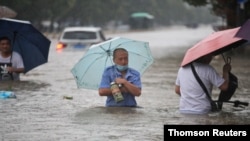
[{"label": "murky brown-grey floodwater covering the street", "polygon": [[[210,26],[202,26],[106,33],[107,38],[122,36],[150,44],[155,62],[142,75],[142,95],[137,98],[140,108],[106,108],[106,98],[97,91],[77,89],[70,69],[84,50],[57,52],[56,38],[51,38],[48,63],[22,75],[19,83],[0,84],[1,89],[11,88],[17,96],[0,99],[0,140],[162,141],[163,127],[168,124],[250,124],[250,108],[236,108],[232,103],[206,116],[178,113],[174,81],[182,57],[189,47],[212,32]],[[244,56],[232,56],[232,72],[239,79],[239,88],[231,100],[250,102],[250,61]],[[212,62],[219,72],[222,64],[220,56]],[[214,93],[216,98],[219,91],[215,89]]]}]

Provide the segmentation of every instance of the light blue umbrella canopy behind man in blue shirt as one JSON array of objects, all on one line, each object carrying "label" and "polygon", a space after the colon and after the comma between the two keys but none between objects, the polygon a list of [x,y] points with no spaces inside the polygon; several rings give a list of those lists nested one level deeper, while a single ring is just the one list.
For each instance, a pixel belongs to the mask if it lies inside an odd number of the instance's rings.
[{"label": "light blue umbrella canopy behind man in blue shirt", "polygon": [[113,51],[116,48],[125,48],[128,51],[128,66],[141,74],[154,61],[148,42],[116,37],[92,45],[71,69],[78,88],[98,89],[104,69],[114,64]]}]

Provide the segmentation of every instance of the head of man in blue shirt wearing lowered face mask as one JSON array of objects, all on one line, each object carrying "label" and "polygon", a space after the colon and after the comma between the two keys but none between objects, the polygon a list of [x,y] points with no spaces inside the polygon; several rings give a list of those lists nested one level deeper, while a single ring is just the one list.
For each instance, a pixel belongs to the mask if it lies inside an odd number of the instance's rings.
[{"label": "head of man in blue shirt wearing lowered face mask", "polygon": [[119,71],[128,68],[128,51],[124,48],[116,48],[113,52],[113,61]]}]

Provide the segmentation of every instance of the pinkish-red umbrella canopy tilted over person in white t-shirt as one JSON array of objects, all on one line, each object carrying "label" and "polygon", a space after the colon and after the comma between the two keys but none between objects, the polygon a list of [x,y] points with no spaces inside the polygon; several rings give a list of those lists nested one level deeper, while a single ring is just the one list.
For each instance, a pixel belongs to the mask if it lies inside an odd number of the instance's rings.
[{"label": "pinkish-red umbrella canopy tilted over person in white t-shirt", "polygon": [[239,29],[240,27],[217,31],[204,38],[203,40],[195,44],[192,48],[187,50],[182,60],[181,66],[185,66],[207,54],[221,54],[242,45],[246,42],[246,40],[234,37]]}]

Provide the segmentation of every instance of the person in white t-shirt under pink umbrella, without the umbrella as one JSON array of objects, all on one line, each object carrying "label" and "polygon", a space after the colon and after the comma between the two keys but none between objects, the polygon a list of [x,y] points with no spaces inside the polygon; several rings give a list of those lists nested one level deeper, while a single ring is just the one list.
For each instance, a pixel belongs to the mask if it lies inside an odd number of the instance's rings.
[{"label": "person in white t-shirt under pink umbrella, without the umbrella", "polygon": [[210,96],[212,94],[213,86],[222,91],[228,89],[231,65],[226,63],[223,66],[223,75],[220,76],[210,65],[212,59],[213,54],[210,53],[200,57],[192,63],[180,67],[175,82],[175,92],[180,95],[180,113],[207,114],[211,111],[210,100],[197,81],[192,71],[192,66],[205,85]]}]

